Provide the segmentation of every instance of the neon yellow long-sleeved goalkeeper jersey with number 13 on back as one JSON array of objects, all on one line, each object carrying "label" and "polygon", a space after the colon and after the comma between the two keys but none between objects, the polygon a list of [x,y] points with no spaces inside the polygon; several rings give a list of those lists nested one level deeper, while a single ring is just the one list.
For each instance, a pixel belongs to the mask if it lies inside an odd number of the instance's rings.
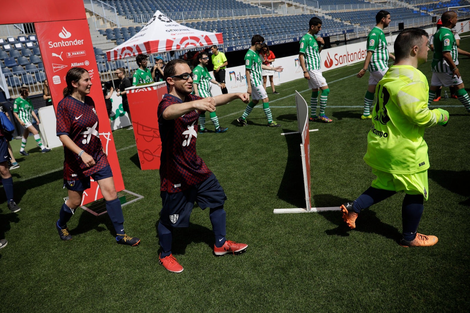
[{"label": "neon yellow long-sleeved goalkeeper jersey with number 13 on back", "polygon": [[364,161],[392,174],[413,174],[429,168],[424,128],[436,125],[439,110],[428,108],[428,80],[410,65],[392,65],[376,86]]}]

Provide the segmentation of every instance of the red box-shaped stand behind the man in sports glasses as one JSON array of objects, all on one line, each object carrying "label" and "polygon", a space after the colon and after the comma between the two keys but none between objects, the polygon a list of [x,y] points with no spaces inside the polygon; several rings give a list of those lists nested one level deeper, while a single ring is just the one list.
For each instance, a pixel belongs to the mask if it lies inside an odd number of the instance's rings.
[{"label": "red box-shaped stand behind the man in sports glasses", "polygon": [[127,88],[135,143],[142,170],[160,169],[162,142],[158,130],[158,103],[166,94],[166,83]]}]

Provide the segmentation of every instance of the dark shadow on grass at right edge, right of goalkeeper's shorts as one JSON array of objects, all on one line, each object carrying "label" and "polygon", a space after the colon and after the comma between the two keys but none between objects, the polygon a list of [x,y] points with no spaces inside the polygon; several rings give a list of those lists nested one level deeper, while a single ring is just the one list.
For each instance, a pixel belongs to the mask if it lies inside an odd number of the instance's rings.
[{"label": "dark shadow on grass at right edge, right of goalkeeper's shorts", "polygon": [[[428,177],[454,194],[468,197],[460,202],[461,205],[470,206],[470,189],[468,178],[470,171],[446,171],[428,169]],[[451,177],[451,179],[449,179]]]}]

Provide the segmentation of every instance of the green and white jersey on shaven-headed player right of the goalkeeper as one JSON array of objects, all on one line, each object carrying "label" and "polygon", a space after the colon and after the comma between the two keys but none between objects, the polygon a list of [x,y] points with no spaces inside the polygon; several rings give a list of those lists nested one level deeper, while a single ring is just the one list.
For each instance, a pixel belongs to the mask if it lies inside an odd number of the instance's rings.
[{"label": "green and white jersey on shaven-headed player right of the goalkeeper", "polygon": [[433,72],[446,73],[452,69],[449,68],[446,60],[444,60],[443,53],[450,52],[452,61],[455,65],[459,64],[457,57],[457,44],[455,43],[454,34],[449,28],[441,27],[434,34],[434,55],[432,57],[431,69]]}]

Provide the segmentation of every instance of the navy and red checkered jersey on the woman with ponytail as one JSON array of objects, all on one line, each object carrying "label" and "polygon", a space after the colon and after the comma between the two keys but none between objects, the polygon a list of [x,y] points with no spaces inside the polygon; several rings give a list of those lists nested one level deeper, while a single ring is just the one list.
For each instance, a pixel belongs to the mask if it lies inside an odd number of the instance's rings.
[{"label": "navy and red checkered jersey on the woman with ponytail", "polygon": [[103,152],[98,131],[98,116],[91,97],[85,96],[85,103],[72,96],[63,98],[57,105],[57,136],[67,135],[75,144],[93,157],[95,164],[87,167],[78,154],[63,147],[63,178],[79,180],[110,165]]}]

